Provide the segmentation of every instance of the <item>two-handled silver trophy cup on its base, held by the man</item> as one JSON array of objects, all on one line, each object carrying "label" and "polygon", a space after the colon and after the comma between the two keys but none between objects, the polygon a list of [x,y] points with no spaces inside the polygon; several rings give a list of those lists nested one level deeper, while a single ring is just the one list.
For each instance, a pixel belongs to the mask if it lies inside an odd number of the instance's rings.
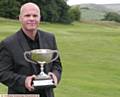
[{"label": "two-handled silver trophy cup on its base, held by the man", "polygon": [[37,78],[33,80],[34,87],[55,87],[53,79],[44,73],[44,65],[46,63],[53,62],[58,58],[57,50],[35,49],[31,51],[25,51],[24,58],[28,62],[40,65],[41,72],[37,75]]}]

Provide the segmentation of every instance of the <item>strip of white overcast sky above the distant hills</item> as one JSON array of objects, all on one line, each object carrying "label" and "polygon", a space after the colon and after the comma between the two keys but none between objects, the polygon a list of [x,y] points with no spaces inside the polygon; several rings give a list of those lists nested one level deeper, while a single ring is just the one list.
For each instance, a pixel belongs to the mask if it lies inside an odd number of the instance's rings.
[{"label": "strip of white overcast sky above the distant hills", "polygon": [[114,4],[120,3],[120,0],[68,0],[68,5],[95,3],[95,4]]}]

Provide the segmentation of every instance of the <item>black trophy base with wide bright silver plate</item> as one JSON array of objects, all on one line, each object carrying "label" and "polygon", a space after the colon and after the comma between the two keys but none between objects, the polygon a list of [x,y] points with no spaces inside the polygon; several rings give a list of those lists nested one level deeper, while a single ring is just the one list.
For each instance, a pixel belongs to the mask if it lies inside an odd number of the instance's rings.
[{"label": "black trophy base with wide bright silver plate", "polygon": [[55,84],[52,79],[45,79],[45,80],[33,80],[33,86],[35,88],[55,88]]}]

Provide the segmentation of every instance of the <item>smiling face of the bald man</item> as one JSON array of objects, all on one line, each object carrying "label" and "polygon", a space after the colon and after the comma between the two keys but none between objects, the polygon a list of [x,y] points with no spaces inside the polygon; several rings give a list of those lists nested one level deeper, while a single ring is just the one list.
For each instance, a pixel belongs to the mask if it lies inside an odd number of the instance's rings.
[{"label": "smiling face of the bald man", "polygon": [[25,6],[20,13],[19,20],[24,30],[34,31],[40,22],[40,11],[35,6]]}]

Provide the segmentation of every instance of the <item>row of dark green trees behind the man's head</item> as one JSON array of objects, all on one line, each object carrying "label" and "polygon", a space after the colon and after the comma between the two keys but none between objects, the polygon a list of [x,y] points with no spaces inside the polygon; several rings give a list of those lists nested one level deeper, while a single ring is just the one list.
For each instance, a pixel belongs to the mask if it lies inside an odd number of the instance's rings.
[{"label": "row of dark green trees behind the man's head", "polygon": [[41,9],[41,20],[71,23],[80,20],[80,8],[71,8],[67,0],[0,0],[0,17],[17,19],[22,4],[36,3]]}]

